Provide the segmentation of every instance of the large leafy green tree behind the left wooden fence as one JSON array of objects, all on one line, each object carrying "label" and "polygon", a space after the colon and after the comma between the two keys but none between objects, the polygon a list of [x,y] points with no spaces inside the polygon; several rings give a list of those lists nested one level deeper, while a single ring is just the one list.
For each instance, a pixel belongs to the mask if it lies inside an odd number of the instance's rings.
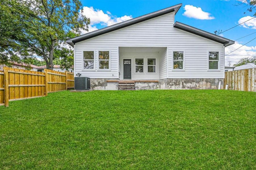
[{"label": "large leafy green tree behind the left wooden fence", "polygon": [[53,69],[56,58],[70,61],[63,43],[90,24],[82,10],[79,0],[0,0],[0,63],[39,56]]}]

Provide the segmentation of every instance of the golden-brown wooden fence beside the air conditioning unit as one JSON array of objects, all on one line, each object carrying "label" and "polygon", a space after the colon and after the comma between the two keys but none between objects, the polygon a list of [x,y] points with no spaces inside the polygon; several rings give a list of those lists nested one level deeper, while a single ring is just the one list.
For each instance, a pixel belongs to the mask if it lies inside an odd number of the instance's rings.
[{"label": "golden-brown wooden fence beside the air conditioning unit", "polygon": [[0,105],[9,101],[47,96],[74,88],[74,73],[44,69],[45,73],[4,67],[0,71]]}]

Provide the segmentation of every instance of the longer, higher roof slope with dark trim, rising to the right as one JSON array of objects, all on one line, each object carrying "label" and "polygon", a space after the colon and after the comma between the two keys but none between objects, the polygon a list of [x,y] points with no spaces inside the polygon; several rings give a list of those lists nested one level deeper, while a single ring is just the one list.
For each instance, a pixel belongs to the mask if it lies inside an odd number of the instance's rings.
[{"label": "longer, higher roof slope with dark trim, rising to the right", "polygon": [[76,42],[84,41],[84,40],[87,40],[87,39],[90,39],[90,38],[93,38],[93,37],[96,37],[96,36],[99,36],[99,35],[102,35],[102,34],[106,34],[106,33],[115,31],[117,29],[128,27],[130,25],[138,24],[140,22],[150,20],[152,18],[156,18],[158,16],[165,15],[165,14],[168,14],[168,13],[171,13],[171,12],[174,12],[176,14],[177,11],[179,10],[179,8],[181,7],[181,5],[182,5],[182,3],[171,6],[171,7],[168,7],[168,8],[158,10],[156,12],[151,12],[149,14],[142,15],[142,16],[139,16],[137,18],[133,18],[133,19],[130,19],[130,20],[127,20],[127,21],[124,21],[124,22],[120,22],[118,24],[114,24],[114,25],[111,25],[111,26],[108,26],[108,27],[105,27],[105,28],[102,28],[102,29],[98,29],[96,31],[92,31],[90,33],[80,35],[78,37],[68,39],[68,40],[66,40],[66,42],[73,47]]}]

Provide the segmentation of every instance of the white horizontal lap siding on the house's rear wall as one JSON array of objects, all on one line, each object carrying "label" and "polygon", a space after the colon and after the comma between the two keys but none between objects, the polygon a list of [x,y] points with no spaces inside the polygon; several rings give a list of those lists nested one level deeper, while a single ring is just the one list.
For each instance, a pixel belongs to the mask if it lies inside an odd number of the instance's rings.
[{"label": "white horizontal lap siding on the house's rear wall", "polygon": [[[121,60],[118,58],[118,47],[168,47],[167,57],[159,61],[158,78],[223,78],[224,77],[224,48],[223,44],[182,31],[173,27],[173,12],[151,20],[131,25],[98,37],[75,44],[75,73],[91,78],[119,78],[121,75]],[[83,50],[95,50],[95,71],[83,71]],[[111,51],[111,70],[98,70],[98,50]],[[185,71],[172,70],[172,50],[185,50]],[[220,71],[208,71],[207,51],[220,51]],[[120,53],[121,54],[121,53]],[[164,62],[168,61],[165,69]],[[119,65],[119,62],[120,65]],[[134,62],[132,62],[134,63]],[[132,66],[133,67],[133,66]],[[166,70],[166,73],[164,71]],[[119,76],[120,72],[120,76]],[[168,72],[168,73],[167,73]],[[138,75],[139,76],[139,75]],[[133,78],[145,79],[145,75]],[[146,75],[148,78],[157,78]]]}]

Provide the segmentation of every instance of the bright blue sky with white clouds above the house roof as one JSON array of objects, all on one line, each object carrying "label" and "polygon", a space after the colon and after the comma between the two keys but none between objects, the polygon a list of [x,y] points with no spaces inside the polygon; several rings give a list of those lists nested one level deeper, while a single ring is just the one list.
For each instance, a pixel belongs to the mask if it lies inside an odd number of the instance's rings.
[{"label": "bright blue sky with white clouds above the house roof", "polygon": [[[254,14],[253,12],[247,11],[248,7],[246,4],[236,6],[238,1],[235,0],[86,0],[82,1],[82,3],[84,6],[83,14],[91,16],[92,24],[90,25],[90,31],[179,3],[182,3],[182,7],[175,15],[175,21],[203,29],[210,33],[214,33],[213,31],[215,30],[224,31],[229,29],[252,18]],[[242,26],[237,26],[222,33],[221,36],[231,40],[236,40],[254,32],[256,32],[256,18],[250,20],[250,22],[246,22]],[[256,33],[238,40],[236,44],[226,48],[226,54],[255,37]],[[226,65],[227,61],[231,61],[231,64],[234,64],[238,59],[247,56],[256,56],[256,39],[246,44],[246,46],[243,46],[236,52],[226,56]]]}]

